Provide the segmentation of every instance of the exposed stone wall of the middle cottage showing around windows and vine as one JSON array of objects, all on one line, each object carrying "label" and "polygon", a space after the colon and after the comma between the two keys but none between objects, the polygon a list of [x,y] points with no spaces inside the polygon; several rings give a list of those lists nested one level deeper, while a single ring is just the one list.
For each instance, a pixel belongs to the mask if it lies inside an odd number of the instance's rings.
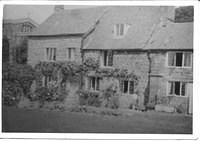
[{"label": "exposed stone wall of the middle cottage showing around windows and vine", "polygon": [[[84,58],[92,57],[95,60],[99,60],[100,58],[100,51],[85,51],[84,52]],[[134,72],[135,75],[138,76],[139,81],[138,85],[136,85],[134,88],[134,92],[138,95],[142,96],[142,101],[140,103],[144,102],[144,93],[147,89],[147,83],[148,83],[148,67],[149,62],[147,58],[147,54],[145,52],[126,52],[126,51],[114,51],[113,56],[113,68],[119,68],[119,69],[127,69],[129,72]],[[116,82],[113,78],[103,78],[100,81],[100,89],[103,90],[109,85],[111,85],[113,82]],[[118,87],[119,87],[119,80]],[[119,90],[119,88],[118,88]],[[122,96],[122,101],[126,101],[126,106],[122,107],[128,107],[130,102],[127,99],[127,96]],[[123,99],[125,98],[125,100]]]}]

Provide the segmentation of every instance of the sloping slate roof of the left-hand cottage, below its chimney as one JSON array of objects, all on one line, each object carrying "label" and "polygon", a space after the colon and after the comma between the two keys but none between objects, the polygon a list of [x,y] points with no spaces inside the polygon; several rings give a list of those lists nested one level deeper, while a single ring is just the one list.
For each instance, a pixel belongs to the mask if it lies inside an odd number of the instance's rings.
[{"label": "sloping slate roof of the left-hand cottage, below its chimney", "polygon": [[83,34],[102,14],[103,7],[63,10],[54,12],[30,36]]}]

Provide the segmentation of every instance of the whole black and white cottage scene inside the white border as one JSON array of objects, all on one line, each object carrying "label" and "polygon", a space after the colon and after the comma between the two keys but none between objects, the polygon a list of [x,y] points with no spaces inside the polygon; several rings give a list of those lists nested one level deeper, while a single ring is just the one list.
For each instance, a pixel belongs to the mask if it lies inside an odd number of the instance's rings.
[{"label": "whole black and white cottage scene inside the white border", "polygon": [[2,132],[192,135],[193,23],[193,5],[4,5]]}]

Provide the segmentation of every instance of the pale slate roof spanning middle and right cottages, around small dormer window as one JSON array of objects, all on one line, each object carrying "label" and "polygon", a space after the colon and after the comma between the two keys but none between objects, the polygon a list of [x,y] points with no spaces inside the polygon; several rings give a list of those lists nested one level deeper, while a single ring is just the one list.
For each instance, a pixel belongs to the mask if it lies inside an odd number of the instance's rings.
[{"label": "pale slate roof spanning middle and right cottages, around small dormer window", "polygon": [[[166,22],[168,25],[162,27],[169,16],[167,12],[166,7],[110,7],[89,37],[91,39],[85,44],[84,49],[191,49],[193,23]],[[122,39],[113,38],[113,25],[116,23],[130,25]],[[150,41],[153,40],[154,42],[149,46]],[[162,44],[168,40],[167,45],[163,46]]]}]

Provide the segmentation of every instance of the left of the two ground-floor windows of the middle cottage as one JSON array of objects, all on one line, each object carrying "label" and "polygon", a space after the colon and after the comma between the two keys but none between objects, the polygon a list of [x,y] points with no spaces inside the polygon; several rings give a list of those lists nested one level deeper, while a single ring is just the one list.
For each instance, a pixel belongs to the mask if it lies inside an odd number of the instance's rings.
[{"label": "left of the two ground-floor windows of the middle cottage", "polygon": [[94,90],[94,91],[99,91],[99,77],[89,77],[89,84],[88,84],[88,89],[89,90]]}]

